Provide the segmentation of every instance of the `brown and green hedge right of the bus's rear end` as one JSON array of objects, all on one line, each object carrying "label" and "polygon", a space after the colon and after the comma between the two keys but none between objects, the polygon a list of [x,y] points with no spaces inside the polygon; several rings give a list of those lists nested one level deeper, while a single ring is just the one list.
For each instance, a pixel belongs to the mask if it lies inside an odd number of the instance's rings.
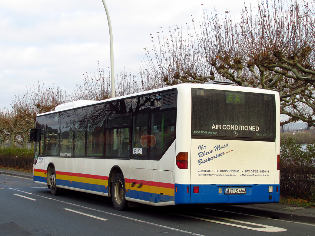
[{"label": "brown and green hedge right of the bus's rear end", "polygon": [[281,140],[280,189],[283,196],[315,198],[315,144]]}]

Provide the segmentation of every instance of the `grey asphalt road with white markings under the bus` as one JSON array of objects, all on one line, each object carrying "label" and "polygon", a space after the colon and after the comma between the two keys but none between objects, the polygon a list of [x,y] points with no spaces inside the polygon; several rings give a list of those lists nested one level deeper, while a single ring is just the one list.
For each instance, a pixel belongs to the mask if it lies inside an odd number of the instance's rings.
[{"label": "grey asphalt road with white markings under the bus", "polygon": [[74,191],[52,196],[31,179],[0,175],[0,236],[315,235],[315,225],[193,206],[116,211],[110,198]]}]

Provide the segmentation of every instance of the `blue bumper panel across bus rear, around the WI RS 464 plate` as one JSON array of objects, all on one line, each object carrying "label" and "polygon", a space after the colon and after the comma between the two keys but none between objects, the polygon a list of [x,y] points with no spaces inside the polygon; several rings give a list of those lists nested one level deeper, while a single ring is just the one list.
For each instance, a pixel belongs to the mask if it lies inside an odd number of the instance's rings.
[{"label": "blue bumper panel across bus rear, around the WI RS 464 plate", "polygon": [[[199,193],[193,193],[194,186],[199,187]],[[273,187],[272,193],[268,192],[269,186]],[[279,184],[175,184],[175,188],[175,204],[272,203],[280,198]],[[246,194],[225,194],[225,188],[245,188]]]}]

